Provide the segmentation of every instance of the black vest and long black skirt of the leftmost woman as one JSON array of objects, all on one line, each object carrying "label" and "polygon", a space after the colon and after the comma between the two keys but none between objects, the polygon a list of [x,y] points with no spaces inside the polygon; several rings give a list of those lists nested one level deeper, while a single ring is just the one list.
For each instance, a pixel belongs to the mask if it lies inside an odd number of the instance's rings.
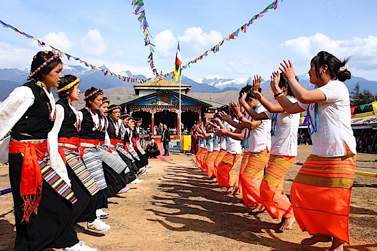
[{"label": "black vest and long black skirt of the leftmost woman", "polygon": [[[41,87],[34,81],[24,84],[31,88],[34,94],[34,103],[13,126],[11,138],[20,140],[44,140],[51,131],[54,122],[49,120],[48,105],[51,103]],[[48,104],[48,105],[47,105]],[[73,204],[58,195],[44,179],[42,184],[41,201],[38,213],[32,213],[29,222],[20,223],[23,219],[23,199],[20,196],[21,169],[23,155],[21,153],[9,154],[9,180],[11,183],[14,202],[14,215],[16,225],[15,250],[40,251],[45,248],[66,248],[78,243],[77,234],[73,228]],[[68,170],[70,177],[74,176]],[[79,185],[75,179],[71,180],[71,189],[80,198]]]}]

